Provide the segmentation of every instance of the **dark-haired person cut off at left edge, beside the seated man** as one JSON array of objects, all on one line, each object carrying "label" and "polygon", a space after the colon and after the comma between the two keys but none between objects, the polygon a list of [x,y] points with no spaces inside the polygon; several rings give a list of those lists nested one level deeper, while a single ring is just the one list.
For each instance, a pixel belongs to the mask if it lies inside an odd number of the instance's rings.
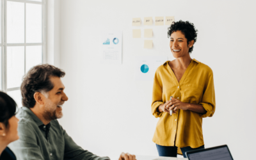
[{"label": "dark-haired person cut off at left edge, beside the seated man", "polygon": [[7,147],[12,141],[19,139],[16,108],[15,101],[6,93],[0,92],[0,160],[16,159],[12,150]]}]

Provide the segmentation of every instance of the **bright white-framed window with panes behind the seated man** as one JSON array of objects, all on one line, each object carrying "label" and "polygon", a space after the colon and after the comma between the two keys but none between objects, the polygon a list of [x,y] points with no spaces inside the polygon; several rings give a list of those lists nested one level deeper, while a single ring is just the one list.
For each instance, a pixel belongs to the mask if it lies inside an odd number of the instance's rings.
[{"label": "bright white-framed window with panes behind the seated man", "polygon": [[0,90],[20,107],[22,77],[45,62],[45,0],[0,2]]}]

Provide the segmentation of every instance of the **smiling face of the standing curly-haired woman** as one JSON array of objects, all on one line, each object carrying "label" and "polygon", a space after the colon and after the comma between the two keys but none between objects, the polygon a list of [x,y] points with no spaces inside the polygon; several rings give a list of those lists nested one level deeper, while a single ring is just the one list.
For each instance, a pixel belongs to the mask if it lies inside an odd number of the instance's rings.
[{"label": "smiling face of the standing curly-haired woman", "polygon": [[189,54],[189,47],[193,46],[194,40],[189,42],[181,31],[175,31],[171,35],[170,49],[174,58],[180,58]]}]

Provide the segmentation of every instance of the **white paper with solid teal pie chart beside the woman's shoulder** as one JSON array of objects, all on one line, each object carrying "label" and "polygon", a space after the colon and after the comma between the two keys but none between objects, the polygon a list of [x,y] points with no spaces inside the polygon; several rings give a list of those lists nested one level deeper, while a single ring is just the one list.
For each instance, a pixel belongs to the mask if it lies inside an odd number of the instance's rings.
[{"label": "white paper with solid teal pie chart beside the woman's shoulder", "polygon": [[135,80],[153,81],[157,68],[167,60],[167,56],[138,56],[134,67]]}]

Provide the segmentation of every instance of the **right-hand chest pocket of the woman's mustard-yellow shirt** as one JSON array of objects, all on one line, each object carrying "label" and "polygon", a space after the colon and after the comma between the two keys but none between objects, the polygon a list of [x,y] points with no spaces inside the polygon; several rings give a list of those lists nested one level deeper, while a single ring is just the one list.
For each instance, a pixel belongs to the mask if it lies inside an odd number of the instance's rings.
[{"label": "right-hand chest pocket of the woman's mustard-yellow shirt", "polygon": [[204,86],[200,84],[186,84],[185,91],[185,101],[188,103],[199,104],[202,102],[202,97],[204,93]]}]

